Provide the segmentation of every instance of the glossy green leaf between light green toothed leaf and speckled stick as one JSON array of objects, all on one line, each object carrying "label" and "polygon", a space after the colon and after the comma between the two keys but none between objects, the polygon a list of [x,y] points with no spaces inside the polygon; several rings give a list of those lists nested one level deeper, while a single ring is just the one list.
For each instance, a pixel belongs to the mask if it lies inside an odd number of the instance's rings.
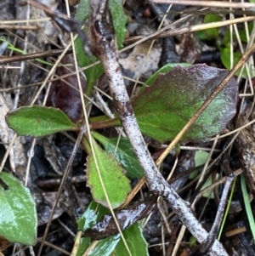
[{"label": "glossy green leaf between light green toothed leaf and speckled stick", "polygon": [[144,176],[144,171],[141,168],[137,157],[134,155],[132,150],[132,145],[127,138],[121,138],[118,147],[116,145],[118,139],[108,139],[105,136],[92,133],[95,139],[104,146],[105,151],[111,155],[114,155],[116,159],[121,163],[122,168],[127,171],[127,177],[130,178],[142,178]]}]

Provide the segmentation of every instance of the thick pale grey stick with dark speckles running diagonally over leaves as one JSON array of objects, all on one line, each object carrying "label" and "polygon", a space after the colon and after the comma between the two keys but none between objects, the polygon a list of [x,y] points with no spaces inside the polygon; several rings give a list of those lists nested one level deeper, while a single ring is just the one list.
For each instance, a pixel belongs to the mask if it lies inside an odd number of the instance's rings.
[{"label": "thick pale grey stick with dark speckles running diagonally over leaves", "polygon": [[[207,240],[208,233],[201,224],[195,219],[194,214],[178,194],[173,190],[171,185],[161,176],[155,162],[150,156],[144,138],[139,130],[138,122],[133,114],[133,107],[129,100],[126,87],[122,78],[122,71],[118,63],[116,52],[116,39],[112,22],[107,9],[107,0],[94,0],[90,3],[91,17],[89,37],[91,40],[91,50],[97,55],[104,66],[105,76],[111,89],[111,95],[116,105],[116,110],[120,114],[122,126],[130,140],[133,151],[139,158],[139,163],[144,169],[147,183],[150,191],[156,192],[163,196],[169,202],[174,213],[184,225],[190,230],[198,242]],[[215,240],[210,250],[210,255],[228,255],[220,242]]]}]

